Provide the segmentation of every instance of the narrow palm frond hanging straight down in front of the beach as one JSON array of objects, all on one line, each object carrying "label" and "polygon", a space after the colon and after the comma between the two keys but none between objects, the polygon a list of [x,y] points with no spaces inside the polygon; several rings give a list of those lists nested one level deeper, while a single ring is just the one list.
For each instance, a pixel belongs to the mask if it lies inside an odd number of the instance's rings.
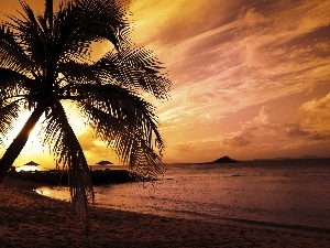
[{"label": "narrow palm frond hanging straight down in front of the beach", "polygon": [[63,169],[68,171],[72,201],[85,224],[86,231],[89,231],[87,205],[94,202],[89,168],[59,101],[53,103],[43,125],[45,127],[44,142],[54,143],[53,153],[57,158],[56,163],[63,164]]}]

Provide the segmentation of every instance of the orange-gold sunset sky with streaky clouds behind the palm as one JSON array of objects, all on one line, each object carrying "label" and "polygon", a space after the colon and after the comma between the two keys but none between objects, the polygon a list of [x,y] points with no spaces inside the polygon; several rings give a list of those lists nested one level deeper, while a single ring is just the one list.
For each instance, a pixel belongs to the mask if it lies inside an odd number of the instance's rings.
[{"label": "orange-gold sunset sky with streaky clouds behind the palm", "polygon": [[[43,10],[43,0],[26,2]],[[19,9],[7,4],[1,15]],[[330,157],[330,1],[131,0],[129,9],[132,40],[173,83],[168,100],[151,99],[165,163]],[[89,164],[119,163],[70,116]],[[53,163],[36,138],[15,163],[30,160]]]}]

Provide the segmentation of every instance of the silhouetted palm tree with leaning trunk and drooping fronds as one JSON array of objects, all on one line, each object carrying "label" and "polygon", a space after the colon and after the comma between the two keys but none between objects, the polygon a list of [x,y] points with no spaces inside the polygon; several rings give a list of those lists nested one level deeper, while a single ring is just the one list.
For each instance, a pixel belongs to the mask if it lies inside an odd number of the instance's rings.
[{"label": "silhouetted palm tree with leaning trunk and drooping fronds", "polygon": [[[23,110],[32,114],[0,160],[0,180],[44,116],[44,143],[52,144],[56,164],[69,172],[74,205],[88,226],[87,204],[94,198],[84,151],[68,122],[64,103],[75,103],[96,136],[130,169],[143,176],[162,173],[163,140],[154,107],[143,95],[166,99],[170,82],[145,48],[129,41],[127,10],[116,0],[72,0],[43,14],[22,2],[20,18],[0,26],[0,144]],[[96,42],[113,48],[90,60]]]}]

